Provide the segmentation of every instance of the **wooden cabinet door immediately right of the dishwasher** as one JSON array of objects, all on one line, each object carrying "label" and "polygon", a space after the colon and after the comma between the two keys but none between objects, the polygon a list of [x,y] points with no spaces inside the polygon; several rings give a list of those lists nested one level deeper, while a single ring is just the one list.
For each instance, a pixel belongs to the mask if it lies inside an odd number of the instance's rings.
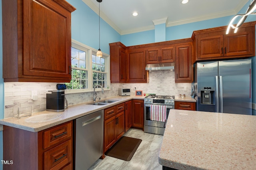
[{"label": "wooden cabinet door immediately right of the dishwasher", "polygon": [[116,117],[104,121],[104,152],[116,142]]}]

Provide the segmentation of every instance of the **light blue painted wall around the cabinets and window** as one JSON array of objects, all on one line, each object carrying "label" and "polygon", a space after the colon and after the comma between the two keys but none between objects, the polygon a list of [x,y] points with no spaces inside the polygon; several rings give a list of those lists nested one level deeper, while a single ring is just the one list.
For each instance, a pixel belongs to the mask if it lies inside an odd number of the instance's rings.
[{"label": "light blue painted wall around the cabinets and window", "polygon": [[[2,18],[2,0],[0,0],[0,17]],[[77,10],[72,12],[72,38],[82,42],[92,48],[99,48],[98,37],[98,15],[91,10],[82,0],[67,0]],[[238,13],[244,13],[250,4],[248,3]],[[190,38],[194,30],[212,28],[217,26],[228,25],[232,16],[172,26],[166,28],[166,40],[176,40],[182,38]],[[1,19],[2,20],[2,19]],[[250,15],[246,22],[256,20],[255,15]],[[154,30],[138,32],[134,34],[122,35],[118,34],[104,20],[100,20],[100,48],[102,52],[109,54],[109,43],[122,42],[126,46],[139,44],[148,44],[155,42]],[[2,32],[2,22],[0,22],[0,32]],[[2,79],[2,34],[0,34],[0,119],[4,117],[4,82]],[[256,60],[252,58],[252,92],[256,93]],[[253,102],[256,103],[256,95],[253,95]],[[255,111],[255,110],[254,110]],[[2,132],[0,132],[0,160],[2,160]],[[0,164],[2,170],[2,164]]]}]

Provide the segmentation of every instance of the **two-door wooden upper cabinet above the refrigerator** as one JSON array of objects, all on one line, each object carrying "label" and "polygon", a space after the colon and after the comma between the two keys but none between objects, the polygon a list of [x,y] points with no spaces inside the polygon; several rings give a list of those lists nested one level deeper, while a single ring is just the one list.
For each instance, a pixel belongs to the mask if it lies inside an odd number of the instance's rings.
[{"label": "two-door wooden upper cabinet above the refrigerator", "polygon": [[244,23],[237,33],[227,26],[194,31],[196,60],[255,56],[255,22]]}]

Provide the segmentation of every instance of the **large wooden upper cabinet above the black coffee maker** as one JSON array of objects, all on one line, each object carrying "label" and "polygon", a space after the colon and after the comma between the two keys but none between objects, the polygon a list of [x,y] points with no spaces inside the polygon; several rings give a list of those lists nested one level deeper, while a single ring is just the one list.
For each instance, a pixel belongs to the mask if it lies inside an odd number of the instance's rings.
[{"label": "large wooden upper cabinet above the black coffee maker", "polygon": [[71,12],[65,0],[4,0],[5,82],[70,82]]}]

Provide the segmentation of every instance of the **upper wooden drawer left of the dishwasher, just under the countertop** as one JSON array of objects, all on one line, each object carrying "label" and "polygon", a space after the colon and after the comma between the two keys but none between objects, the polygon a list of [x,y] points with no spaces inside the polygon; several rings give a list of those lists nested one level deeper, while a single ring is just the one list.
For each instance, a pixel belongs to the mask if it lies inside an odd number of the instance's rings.
[{"label": "upper wooden drawer left of the dishwasher, just under the countertop", "polygon": [[72,135],[72,122],[68,122],[43,133],[44,149],[69,138]]}]

